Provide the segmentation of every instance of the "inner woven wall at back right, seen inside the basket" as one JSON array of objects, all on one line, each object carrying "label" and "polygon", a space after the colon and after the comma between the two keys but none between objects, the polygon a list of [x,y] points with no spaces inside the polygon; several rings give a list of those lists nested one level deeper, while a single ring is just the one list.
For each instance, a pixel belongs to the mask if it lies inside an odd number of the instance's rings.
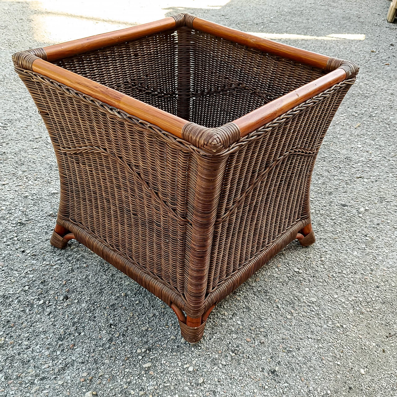
[{"label": "inner woven wall at back right, seen inside the basket", "polygon": [[192,30],[190,121],[218,127],[325,71]]}]

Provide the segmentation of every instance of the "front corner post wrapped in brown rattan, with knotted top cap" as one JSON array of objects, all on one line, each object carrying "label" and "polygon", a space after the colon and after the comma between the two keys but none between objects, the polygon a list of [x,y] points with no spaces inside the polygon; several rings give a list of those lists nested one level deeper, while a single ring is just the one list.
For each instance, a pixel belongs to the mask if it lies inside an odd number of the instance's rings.
[{"label": "front corner post wrapped in brown rattan, with knotted top cap", "polygon": [[184,307],[189,317],[199,318],[207,309],[205,297],[211,247],[222,181],[229,156],[227,149],[240,138],[240,130],[234,123],[227,123],[217,128],[187,123],[182,129],[182,138],[201,149],[197,156],[192,237]]}]

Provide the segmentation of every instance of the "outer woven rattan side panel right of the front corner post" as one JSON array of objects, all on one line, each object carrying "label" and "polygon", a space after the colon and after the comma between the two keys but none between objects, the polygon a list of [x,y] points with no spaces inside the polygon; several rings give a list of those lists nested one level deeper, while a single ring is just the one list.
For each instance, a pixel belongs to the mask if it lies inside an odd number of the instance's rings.
[{"label": "outer woven rattan side panel right of the front corner post", "polygon": [[[232,150],[208,272],[207,294],[215,295],[211,302],[243,282],[251,272],[245,266],[253,266],[276,240],[296,225],[310,222],[309,189],[316,155],[352,83],[339,83],[297,106]],[[225,282],[239,272],[234,285],[226,287]]]}]

